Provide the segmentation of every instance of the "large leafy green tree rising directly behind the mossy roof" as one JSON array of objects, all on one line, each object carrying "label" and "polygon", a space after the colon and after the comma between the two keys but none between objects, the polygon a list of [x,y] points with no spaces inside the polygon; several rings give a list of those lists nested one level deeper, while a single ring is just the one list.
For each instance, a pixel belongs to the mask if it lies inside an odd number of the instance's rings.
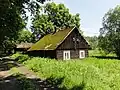
[{"label": "large leafy green tree rising directly behind the mossy roof", "polygon": [[64,4],[48,3],[33,18],[32,32],[38,39],[64,27],[80,27],[79,14],[72,15]]}]

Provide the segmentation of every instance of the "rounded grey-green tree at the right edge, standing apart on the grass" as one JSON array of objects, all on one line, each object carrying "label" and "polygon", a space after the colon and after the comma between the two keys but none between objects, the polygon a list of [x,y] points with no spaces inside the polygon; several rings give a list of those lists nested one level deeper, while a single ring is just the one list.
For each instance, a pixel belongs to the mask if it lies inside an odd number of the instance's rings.
[{"label": "rounded grey-green tree at the right edge, standing apart on the grass", "polygon": [[109,10],[103,17],[99,47],[105,52],[114,52],[120,58],[120,6]]}]

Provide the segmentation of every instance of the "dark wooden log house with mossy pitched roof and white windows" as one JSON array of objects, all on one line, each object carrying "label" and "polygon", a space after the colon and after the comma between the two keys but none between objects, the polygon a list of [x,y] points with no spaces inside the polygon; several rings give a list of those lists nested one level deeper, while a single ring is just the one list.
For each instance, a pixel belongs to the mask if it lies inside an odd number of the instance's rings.
[{"label": "dark wooden log house with mossy pitched roof and white windows", "polygon": [[66,28],[48,34],[29,50],[30,55],[55,59],[78,59],[88,56],[90,45],[76,27]]}]

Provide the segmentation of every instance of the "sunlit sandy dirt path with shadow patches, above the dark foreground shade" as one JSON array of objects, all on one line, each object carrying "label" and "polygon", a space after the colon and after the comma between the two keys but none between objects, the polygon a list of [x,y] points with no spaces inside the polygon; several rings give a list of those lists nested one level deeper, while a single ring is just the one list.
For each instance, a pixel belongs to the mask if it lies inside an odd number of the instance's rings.
[{"label": "sunlit sandy dirt path with shadow patches, above the dark foreground shade", "polygon": [[27,78],[38,78],[38,76],[30,71],[27,67],[17,63],[16,61],[1,61],[0,62],[0,78],[6,78],[10,76],[11,71],[10,69],[16,67],[17,70],[21,73],[24,74]]}]

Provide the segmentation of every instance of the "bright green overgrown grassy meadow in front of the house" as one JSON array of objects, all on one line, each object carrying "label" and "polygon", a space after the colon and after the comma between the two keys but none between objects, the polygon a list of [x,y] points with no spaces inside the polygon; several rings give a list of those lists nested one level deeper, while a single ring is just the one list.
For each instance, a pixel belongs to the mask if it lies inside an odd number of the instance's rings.
[{"label": "bright green overgrown grassy meadow in front of the house", "polygon": [[52,78],[52,83],[64,89],[120,90],[120,61],[110,59],[111,56],[114,55],[104,58],[98,51],[90,51],[90,57],[82,60],[57,61],[23,55],[19,61],[40,78]]}]

